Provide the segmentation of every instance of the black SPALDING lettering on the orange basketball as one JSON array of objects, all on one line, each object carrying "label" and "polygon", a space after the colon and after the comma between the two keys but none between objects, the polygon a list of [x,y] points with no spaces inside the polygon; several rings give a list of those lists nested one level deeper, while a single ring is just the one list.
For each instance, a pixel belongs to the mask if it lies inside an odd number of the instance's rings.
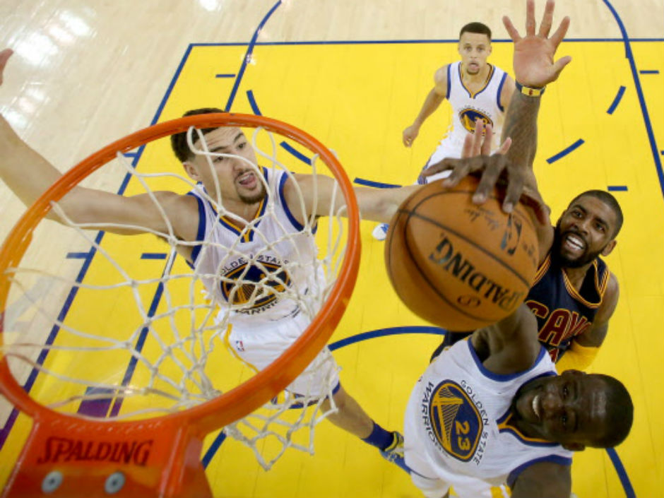
[{"label": "black SPALDING lettering on the orange basketball", "polygon": [[452,242],[443,235],[434,251],[429,254],[429,260],[441,266],[451,276],[466,283],[468,287],[478,292],[488,300],[492,300],[500,308],[511,311],[523,299],[523,292],[511,290],[495,283],[487,275],[475,269],[461,251],[456,251]]}]

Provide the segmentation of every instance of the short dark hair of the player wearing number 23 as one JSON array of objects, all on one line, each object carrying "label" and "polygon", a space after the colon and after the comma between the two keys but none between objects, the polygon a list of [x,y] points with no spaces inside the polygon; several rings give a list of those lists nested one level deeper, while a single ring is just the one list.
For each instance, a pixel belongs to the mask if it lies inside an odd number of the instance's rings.
[{"label": "short dark hair of the player wearing number 23", "polygon": [[604,374],[595,374],[602,379],[606,385],[606,432],[598,441],[595,441],[597,448],[613,448],[617,446],[629,434],[634,422],[634,404],[632,396],[624,384],[615,377]]}]

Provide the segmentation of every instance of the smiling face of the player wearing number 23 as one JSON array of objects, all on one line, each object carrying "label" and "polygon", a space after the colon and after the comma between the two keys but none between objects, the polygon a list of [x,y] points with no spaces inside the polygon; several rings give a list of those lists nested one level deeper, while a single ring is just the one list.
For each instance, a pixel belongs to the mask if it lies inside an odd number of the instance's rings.
[{"label": "smiling face of the player wearing number 23", "polygon": [[591,446],[605,431],[605,389],[603,379],[578,370],[530,381],[514,398],[518,427],[568,449]]}]

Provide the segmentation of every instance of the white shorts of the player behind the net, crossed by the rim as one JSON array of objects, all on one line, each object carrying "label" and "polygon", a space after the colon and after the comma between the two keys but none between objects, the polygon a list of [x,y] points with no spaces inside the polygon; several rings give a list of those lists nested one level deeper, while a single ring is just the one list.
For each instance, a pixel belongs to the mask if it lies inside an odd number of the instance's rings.
[{"label": "white shorts of the player behind the net, crossed by the rim", "polygon": [[[230,325],[225,343],[240,360],[260,371],[280,357],[310,323],[311,320],[301,312],[295,318],[258,327]],[[328,396],[337,389],[338,371],[339,367],[326,346],[286,390],[302,396]]]}]

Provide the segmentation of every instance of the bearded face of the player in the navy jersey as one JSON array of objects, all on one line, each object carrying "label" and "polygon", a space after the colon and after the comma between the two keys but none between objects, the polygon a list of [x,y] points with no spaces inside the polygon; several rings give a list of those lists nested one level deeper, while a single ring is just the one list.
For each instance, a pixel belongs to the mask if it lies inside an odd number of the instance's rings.
[{"label": "bearded face of the player in the navy jersey", "polygon": [[600,199],[582,196],[562,213],[556,225],[554,250],[564,266],[579,267],[615,246],[615,212]]}]

